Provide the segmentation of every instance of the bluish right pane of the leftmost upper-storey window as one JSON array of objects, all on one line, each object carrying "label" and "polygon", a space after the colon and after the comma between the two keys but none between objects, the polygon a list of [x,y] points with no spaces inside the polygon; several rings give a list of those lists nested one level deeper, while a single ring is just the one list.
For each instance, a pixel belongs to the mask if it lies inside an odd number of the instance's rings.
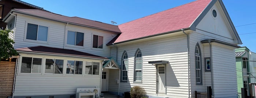
[{"label": "bluish right pane of the leftmost upper-storey window", "polygon": [[48,36],[48,27],[38,26],[37,40],[47,41],[47,36]]}]

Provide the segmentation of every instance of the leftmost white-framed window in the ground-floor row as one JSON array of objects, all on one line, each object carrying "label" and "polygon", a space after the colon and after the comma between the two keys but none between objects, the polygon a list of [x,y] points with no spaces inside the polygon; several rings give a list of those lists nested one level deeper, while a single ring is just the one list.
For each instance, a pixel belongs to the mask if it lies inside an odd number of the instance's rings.
[{"label": "leftmost white-framed window in the ground-floor row", "polygon": [[21,73],[41,73],[42,59],[34,57],[22,57]]}]

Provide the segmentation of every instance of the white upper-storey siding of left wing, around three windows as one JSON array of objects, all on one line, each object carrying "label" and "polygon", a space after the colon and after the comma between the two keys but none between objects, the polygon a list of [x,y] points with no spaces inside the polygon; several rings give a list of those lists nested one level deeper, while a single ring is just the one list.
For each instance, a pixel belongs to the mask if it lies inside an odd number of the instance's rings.
[{"label": "white upper-storey siding of left wing, around three windows", "polygon": [[[38,24],[48,27],[48,41],[34,41],[25,39],[27,23]],[[66,26],[66,31],[65,31]],[[67,31],[78,31],[84,33],[84,46],[66,45]],[[103,49],[92,48],[93,34],[103,36]],[[81,52],[95,54],[98,56],[109,57],[110,47],[106,44],[117,34],[110,31],[92,29],[89,27],[67,24],[53,20],[35,18],[18,14],[16,19],[15,44],[14,48],[26,48],[32,46],[48,46],[53,48],[73,49]]]}]

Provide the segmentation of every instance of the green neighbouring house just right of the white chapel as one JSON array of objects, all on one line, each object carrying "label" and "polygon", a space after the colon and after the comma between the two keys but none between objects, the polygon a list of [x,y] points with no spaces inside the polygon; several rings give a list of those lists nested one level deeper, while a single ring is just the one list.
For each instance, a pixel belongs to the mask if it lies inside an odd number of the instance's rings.
[{"label": "green neighbouring house just right of the white chapel", "polygon": [[241,47],[235,49],[235,59],[237,66],[237,91],[241,93],[241,88],[246,88],[249,94],[249,83],[251,83],[251,72],[249,65],[249,49]]}]

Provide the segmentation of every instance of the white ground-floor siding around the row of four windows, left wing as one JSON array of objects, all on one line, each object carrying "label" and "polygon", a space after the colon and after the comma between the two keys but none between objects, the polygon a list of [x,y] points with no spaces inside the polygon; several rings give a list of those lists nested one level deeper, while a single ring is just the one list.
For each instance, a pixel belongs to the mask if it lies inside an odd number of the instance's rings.
[{"label": "white ground-floor siding around the row of four windows, left wing", "polygon": [[[22,57],[36,57],[42,58],[42,73],[21,73],[21,59]],[[60,59],[64,60],[63,74],[49,74],[45,71],[45,59]],[[82,75],[66,74],[67,60],[83,61]],[[86,75],[86,62],[99,62],[99,75]],[[94,88],[100,87],[102,60],[81,59],[74,57],[56,57],[35,54],[21,54],[18,61],[18,75],[15,82],[14,96],[34,96],[34,95],[63,95],[75,94],[77,88]],[[100,90],[98,90],[100,94]]]}]

